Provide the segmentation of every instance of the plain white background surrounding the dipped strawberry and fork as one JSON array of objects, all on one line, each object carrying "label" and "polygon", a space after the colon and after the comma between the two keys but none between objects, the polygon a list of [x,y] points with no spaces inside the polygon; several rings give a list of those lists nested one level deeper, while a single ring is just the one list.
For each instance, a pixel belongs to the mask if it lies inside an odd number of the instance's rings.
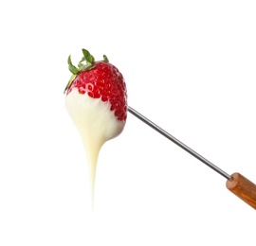
[{"label": "plain white background surrounding the dipped strawberry and fork", "polygon": [[[256,182],[255,1],[2,1],[0,245],[252,245],[255,210],[128,114],[86,158],[64,109],[66,59],[106,54],[128,102]],[[77,61],[77,62],[76,62]]]}]

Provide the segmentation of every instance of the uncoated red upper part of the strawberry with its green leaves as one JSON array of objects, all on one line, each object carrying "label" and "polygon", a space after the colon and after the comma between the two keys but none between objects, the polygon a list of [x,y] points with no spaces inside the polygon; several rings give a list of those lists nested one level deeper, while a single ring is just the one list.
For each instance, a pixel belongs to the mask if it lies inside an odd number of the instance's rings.
[{"label": "uncoated red upper part of the strawberry with its green leaves", "polygon": [[[82,49],[82,61],[75,67],[68,57],[68,68],[73,74],[68,81],[64,93],[68,95],[74,88],[80,94],[87,93],[93,98],[101,98],[103,102],[110,102],[111,111],[120,121],[127,117],[127,92],[125,81],[119,69],[111,64],[106,56],[103,61],[95,62],[94,57]],[[84,63],[85,62],[85,63]]]}]

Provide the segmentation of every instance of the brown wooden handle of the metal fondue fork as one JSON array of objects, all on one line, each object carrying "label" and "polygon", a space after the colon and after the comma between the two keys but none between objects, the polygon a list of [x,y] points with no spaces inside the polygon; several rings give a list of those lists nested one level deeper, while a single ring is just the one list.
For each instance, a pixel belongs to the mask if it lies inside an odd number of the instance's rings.
[{"label": "brown wooden handle of the metal fondue fork", "polygon": [[227,188],[237,197],[256,209],[256,184],[238,172],[231,175],[226,183]]}]

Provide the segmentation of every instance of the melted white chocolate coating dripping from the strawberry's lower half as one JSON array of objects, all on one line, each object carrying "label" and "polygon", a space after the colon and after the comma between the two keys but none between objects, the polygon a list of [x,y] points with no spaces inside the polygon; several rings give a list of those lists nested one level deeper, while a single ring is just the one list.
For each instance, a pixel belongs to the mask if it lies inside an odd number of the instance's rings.
[{"label": "melted white chocolate coating dripping from the strawberry's lower half", "polygon": [[92,202],[96,167],[101,146],[109,139],[122,132],[125,122],[119,121],[114,111],[110,111],[111,104],[92,98],[87,94],[80,94],[74,88],[65,97],[65,107],[82,136],[82,143],[88,159]]}]

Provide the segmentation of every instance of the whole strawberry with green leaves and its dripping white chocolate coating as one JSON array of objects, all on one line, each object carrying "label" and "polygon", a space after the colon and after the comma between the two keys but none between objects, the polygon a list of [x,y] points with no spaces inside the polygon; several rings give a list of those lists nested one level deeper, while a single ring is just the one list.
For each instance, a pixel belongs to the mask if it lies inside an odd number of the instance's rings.
[{"label": "whole strawberry with green leaves and its dripping white chocolate coating", "polygon": [[78,67],[70,56],[67,60],[72,76],[64,89],[65,106],[82,136],[93,196],[101,146],[118,136],[126,122],[127,92],[121,73],[106,56],[95,62],[86,49],[82,54]]}]

